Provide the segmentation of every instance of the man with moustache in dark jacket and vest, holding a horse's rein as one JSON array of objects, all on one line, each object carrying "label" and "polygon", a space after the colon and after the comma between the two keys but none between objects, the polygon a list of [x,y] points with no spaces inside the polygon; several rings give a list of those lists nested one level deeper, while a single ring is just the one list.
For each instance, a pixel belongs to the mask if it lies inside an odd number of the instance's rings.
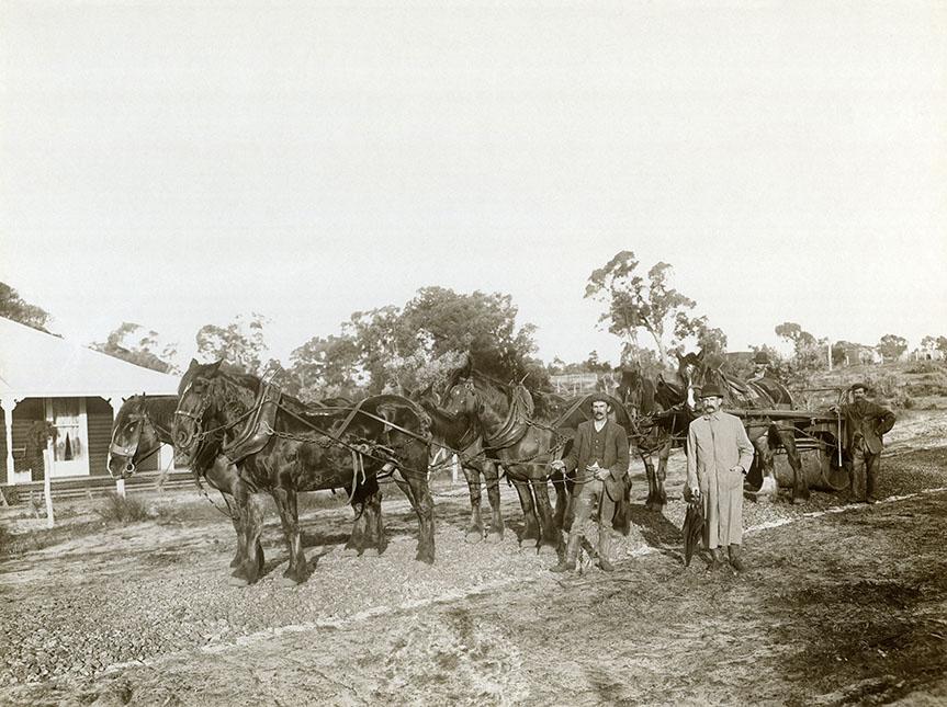
[{"label": "man with moustache in dark jacket and vest, holding a horse's rein", "polygon": [[591,420],[578,425],[575,444],[565,459],[552,463],[560,471],[576,470],[575,520],[568,534],[565,558],[553,572],[575,570],[578,545],[585,536],[598,504],[598,566],[611,572],[609,551],[612,540],[612,516],[624,494],[628,477],[628,436],[624,429],[608,419],[608,400],[596,395],[591,399]]}]

